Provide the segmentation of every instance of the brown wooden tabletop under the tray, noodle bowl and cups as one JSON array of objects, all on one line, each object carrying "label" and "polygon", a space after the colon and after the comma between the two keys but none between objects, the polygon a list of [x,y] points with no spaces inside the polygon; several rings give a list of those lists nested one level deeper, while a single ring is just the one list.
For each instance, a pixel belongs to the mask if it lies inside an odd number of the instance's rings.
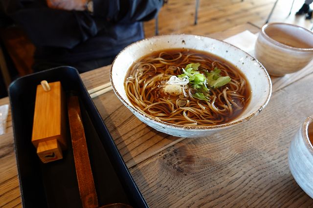
[{"label": "brown wooden tabletop under the tray, noodle bowl and cups", "polygon": [[[210,37],[225,39],[245,24]],[[109,82],[110,66],[81,74],[91,89]],[[294,181],[288,149],[313,114],[313,64],[272,78],[268,106],[251,121],[205,138],[169,136],[141,123],[112,91],[93,99],[134,180],[151,207],[309,207]],[[8,104],[8,98],[0,104]],[[0,207],[21,207],[11,115],[0,136]]]}]

